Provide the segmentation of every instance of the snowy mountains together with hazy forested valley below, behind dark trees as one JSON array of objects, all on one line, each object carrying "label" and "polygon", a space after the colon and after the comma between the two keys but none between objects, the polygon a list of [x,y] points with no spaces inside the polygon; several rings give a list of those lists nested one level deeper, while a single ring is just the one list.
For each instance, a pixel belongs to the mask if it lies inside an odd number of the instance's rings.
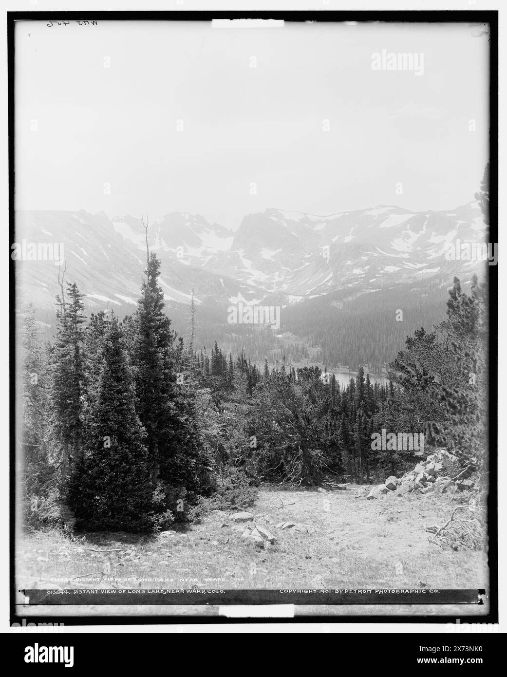
[{"label": "snowy mountains together with hazy forested valley below, behind dark trees", "polygon": [[[485,269],[482,261],[446,257],[449,244],[477,245],[484,237],[477,202],[449,212],[380,205],[326,217],[266,209],[244,217],[235,232],[190,213],[169,213],[148,226],[167,314],[188,336],[193,292],[194,345],[203,354],[218,341],[225,354],[243,350],[252,362],[274,366],[286,355],[336,373],[364,366],[382,374],[407,336],[441,322],[453,277],[467,284]],[[18,242],[58,243],[66,280],[79,284],[88,313],[107,307],[122,319],[135,312],[145,238],[142,220],[131,216],[16,213]],[[48,340],[59,292],[55,264],[16,261],[18,308],[35,306]],[[279,326],[231,323],[231,304],[278,309]]]}]

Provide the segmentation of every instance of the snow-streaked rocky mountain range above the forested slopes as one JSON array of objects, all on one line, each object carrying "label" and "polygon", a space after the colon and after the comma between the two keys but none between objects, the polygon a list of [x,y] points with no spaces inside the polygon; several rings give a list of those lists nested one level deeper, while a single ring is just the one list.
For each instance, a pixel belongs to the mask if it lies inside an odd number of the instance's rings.
[{"label": "snow-streaked rocky mountain range above the forested slopes", "polygon": [[[16,212],[16,242],[63,243],[66,280],[76,280],[92,308],[135,305],[145,237],[141,219],[131,216]],[[484,264],[447,260],[448,243],[484,240],[477,202],[418,213],[379,205],[324,217],[266,209],[245,216],[236,232],[200,215],[169,213],[150,219],[148,227],[169,305],[190,303],[192,288],[198,305],[238,299],[287,304],[351,286],[378,289],[436,275],[450,280]],[[53,261],[17,261],[19,302],[53,307],[57,278]]]}]

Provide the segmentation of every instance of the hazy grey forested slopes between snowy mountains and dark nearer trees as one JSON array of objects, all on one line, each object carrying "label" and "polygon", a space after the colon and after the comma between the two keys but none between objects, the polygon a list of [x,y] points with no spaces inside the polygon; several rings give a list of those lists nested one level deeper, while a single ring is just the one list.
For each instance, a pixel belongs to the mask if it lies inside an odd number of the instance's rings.
[{"label": "hazy grey forested slopes between snowy mountains and dark nearer trees", "polygon": [[[310,359],[326,365],[329,370],[343,366],[357,372],[363,366],[371,374],[382,374],[393,355],[403,348],[407,336],[421,326],[431,327],[445,318],[450,284],[451,280],[447,284],[435,278],[417,286],[401,284],[374,291],[337,290],[282,306],[280,329],[276,332],[269,326],[227,324],[226,307],[206,303],[198,306],[195,316],[194,346],[210,353],[218,341],[225,353],[236,355],[244,351],[258,364],[266,358],[273,364],[285,354],[288,361]],[[465,284],[469,284],[469,280]],[[269,301],[275,302],[276,299]],[[86,299],[83,303],[88,313],[96,314],[100,307],[106,309],[106,303],[91,306]],[[119,320],[135,312],[134,305],[112,307]],[[188,305],[167,304],[164,312],[171,318],[177,334],[190,334],[192,313]],[[35,317],[41,323],[41,334],[52,341],[56,327],[54,313],[37,309]]]}]

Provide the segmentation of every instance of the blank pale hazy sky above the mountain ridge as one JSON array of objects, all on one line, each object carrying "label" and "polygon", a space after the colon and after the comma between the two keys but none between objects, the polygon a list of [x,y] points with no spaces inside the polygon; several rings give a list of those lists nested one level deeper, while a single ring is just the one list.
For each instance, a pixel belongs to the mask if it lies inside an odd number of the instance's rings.
[{"label": "blank pale hazy sky above the mountain ridge", "polygon": [[[479,188],[489,44],[467,23],[46,23],[16,26],[18,209],[236,229],[266,207],[447,210]],[[372,70],[382,49],[424,71]]]}]

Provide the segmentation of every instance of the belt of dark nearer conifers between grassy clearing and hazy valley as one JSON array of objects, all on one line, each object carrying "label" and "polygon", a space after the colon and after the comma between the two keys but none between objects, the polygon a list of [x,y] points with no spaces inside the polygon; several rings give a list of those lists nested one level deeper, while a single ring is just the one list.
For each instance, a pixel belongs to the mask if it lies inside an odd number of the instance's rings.
[{"label": "belt of dark nearer conifers between grassy clearing and hazy valley", "polygon": [[156,531],[198,519],[213,497],[248,504],[259,481],[378,481],[416,458],[375,447],[382,430],[422,433],[424,453],[445,445],[483,456],[487,290],[477,278],[470,295],[454,280],[447,319],[407,339],[387,387],[359,368],[340,389],[332,374],[295,370],[286,356],[275,370],[217,341],[205,354],[195,349],[196,322],[177,338],[159,272],[152,254],[137,311],[123,320],[112,311],[85,317],[78,286],[62,281],[52,343],[41,341],[33,309],[22,314],[28,523]]}]

